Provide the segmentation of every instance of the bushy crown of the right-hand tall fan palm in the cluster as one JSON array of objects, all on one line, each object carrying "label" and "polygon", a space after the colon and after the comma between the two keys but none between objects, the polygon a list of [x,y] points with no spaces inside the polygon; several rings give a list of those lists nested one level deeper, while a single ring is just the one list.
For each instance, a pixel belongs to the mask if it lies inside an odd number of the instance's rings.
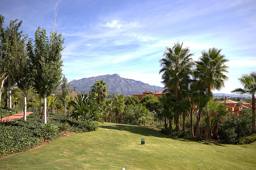
[{"label": "bushy crown of the right-hand tall fan palm in the cluster", "polygon": [[221,49],[210,48],[202,51],[199,61],[196,61],[195,76],[199,78],[199,83],[203,83],[207,89],[208,97],[212,96],[212,90],[220,90],[224,87],[225,80],[228,79],[224,73],[228,72],[225,55],[220,54]]}]

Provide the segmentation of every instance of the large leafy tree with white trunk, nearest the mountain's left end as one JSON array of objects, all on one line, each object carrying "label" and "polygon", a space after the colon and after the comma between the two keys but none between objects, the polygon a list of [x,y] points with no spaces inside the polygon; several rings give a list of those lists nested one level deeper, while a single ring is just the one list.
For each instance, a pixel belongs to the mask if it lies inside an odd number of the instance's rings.
[{"label": "large leafy tree with white trunk, nearest the mountain's left end", "polygon": [[55,92],[61,80],[61,51],[64,39],[53,31],[48,37],[44,28],[38,27],[35,40],[29,39],[28,56],[33,66],[34,88],[44,98],[44,124],[46,122],[46,97]]}]

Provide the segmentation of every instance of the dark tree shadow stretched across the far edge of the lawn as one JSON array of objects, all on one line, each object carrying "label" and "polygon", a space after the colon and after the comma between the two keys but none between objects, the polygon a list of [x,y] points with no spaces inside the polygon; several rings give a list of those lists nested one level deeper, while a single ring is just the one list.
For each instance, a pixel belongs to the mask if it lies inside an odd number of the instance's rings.
[{"label": "dark tree shadow stretched across the far edge of the lawn", "polygon": [[[160,132],[160,130],[152,127],[144,127],[144,126],[135,126],[135,125],[122,125],[122,124],[114,124],[114,125],[106,125],[106,126],[101,126],[103,129],[115,129],[115,130],[125,130],[129,131],[134,134],[139,134],[143,136],[152,136],[152,137],[165,137],[165,138],[170,138],[173,140],[179,140],[183,142],[197,142],[200,144],[206,144],[206,145],[218,145],[218,146],[225,146],[224,144],[219,144],[219,143],[207,143],[207,142],[199,142],[195,140],[188,140],[188,139],[183,139],[183,138],[178,138],[178,137],[172,137],[172,136],[167,136],[163,133]],[[226,147],[226,146],[225,146]]]}]

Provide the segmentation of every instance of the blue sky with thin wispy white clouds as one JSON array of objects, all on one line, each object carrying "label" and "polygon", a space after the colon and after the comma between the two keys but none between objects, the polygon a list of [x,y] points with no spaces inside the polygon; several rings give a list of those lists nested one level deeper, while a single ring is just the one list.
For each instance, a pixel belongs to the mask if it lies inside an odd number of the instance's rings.
[{"label": "blue sky with thin wispy white clouds", "polygon": [[[220,92],[240,87],[241,74],[256,71],[256,1],[5,1],[5,26],[22,19],[34,37],[38,26],[63,34],[63,74],[69,81],[117,73],[161,84],[159,60],[165,46],[183,41],[194,60],[204,49],[222,48],[229,77]],[[218,91],[215,91],[218,92]]]}]

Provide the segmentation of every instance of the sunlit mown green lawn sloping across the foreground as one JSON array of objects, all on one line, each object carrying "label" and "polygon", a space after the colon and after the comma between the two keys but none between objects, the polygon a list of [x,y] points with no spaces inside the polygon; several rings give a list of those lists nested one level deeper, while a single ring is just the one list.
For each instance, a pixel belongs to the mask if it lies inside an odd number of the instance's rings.
[{"label": "sunlit mown green lawn sloping across the foreground", "polygon": [[0,169],[254,169],[255,151],[256,142],[203,143],[169,137],[156,128],[104,123],[96,131],[2,159]]}]

